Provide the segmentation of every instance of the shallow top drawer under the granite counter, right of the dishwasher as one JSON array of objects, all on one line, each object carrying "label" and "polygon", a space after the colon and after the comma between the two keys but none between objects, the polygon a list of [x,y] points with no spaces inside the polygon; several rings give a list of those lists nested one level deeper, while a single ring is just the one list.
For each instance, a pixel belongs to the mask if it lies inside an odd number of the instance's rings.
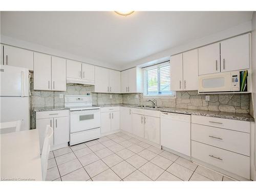
[{"label": "shallow top drawer under the granite counter, right of the dishwasher", "polygon": [[228,130],[250,133],[250,122],[217,117],[191,116],[191,123],[225,128]]}]

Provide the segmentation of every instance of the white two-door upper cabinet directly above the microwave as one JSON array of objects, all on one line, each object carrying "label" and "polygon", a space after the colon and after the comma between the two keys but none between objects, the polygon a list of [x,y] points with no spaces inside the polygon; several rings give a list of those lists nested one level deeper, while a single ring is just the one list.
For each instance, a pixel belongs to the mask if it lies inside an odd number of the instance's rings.
[{"label": "white two-door upper cabinet directly above the microwave", "polygon": [[198,49],[199,75],[249,69],[250,34]]}]

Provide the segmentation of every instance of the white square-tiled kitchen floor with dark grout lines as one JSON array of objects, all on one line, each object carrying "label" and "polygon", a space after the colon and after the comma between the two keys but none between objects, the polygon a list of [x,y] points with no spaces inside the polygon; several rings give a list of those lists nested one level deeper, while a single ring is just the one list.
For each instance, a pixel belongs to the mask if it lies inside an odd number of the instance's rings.
[{"label": "white square-tiled kitchen floor with dark grout lines", "polygon": [[230,181],[121,132],[50,152],[48,181]]}]

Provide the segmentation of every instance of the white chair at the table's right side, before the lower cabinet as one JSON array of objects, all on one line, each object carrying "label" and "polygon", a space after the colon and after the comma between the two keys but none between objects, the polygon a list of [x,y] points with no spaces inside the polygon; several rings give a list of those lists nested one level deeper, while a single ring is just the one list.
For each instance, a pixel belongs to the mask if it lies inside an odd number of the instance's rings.
[{"label": "white chair at the table's right side, before the lower cabinet", "polygon": [[42,167],[42,180],[46,180],[47,167],[48,167],[48,158],[50,153],[50,141],[53,135],[53,129],[50,125],[46,126],[46,137],[44,144],[42,145],[42,154],[41,154],[41,167]]}]

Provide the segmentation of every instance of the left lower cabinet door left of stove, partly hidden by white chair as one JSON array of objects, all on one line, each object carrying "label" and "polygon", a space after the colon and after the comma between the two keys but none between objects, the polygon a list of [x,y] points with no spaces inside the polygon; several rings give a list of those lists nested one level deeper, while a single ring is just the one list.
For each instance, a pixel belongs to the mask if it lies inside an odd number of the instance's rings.
[{"label": "left lower cabinet door left of stove, partly hidden by white chair", "polygon": [[[39,134],[40,152],[42,151],[42,145],[44,144],[47,125],[50,125],[53,128],[53,118],[36,119],[36,129],[38,130]],[[51,140],[51,145],[53,145],[53,137]]]}]

